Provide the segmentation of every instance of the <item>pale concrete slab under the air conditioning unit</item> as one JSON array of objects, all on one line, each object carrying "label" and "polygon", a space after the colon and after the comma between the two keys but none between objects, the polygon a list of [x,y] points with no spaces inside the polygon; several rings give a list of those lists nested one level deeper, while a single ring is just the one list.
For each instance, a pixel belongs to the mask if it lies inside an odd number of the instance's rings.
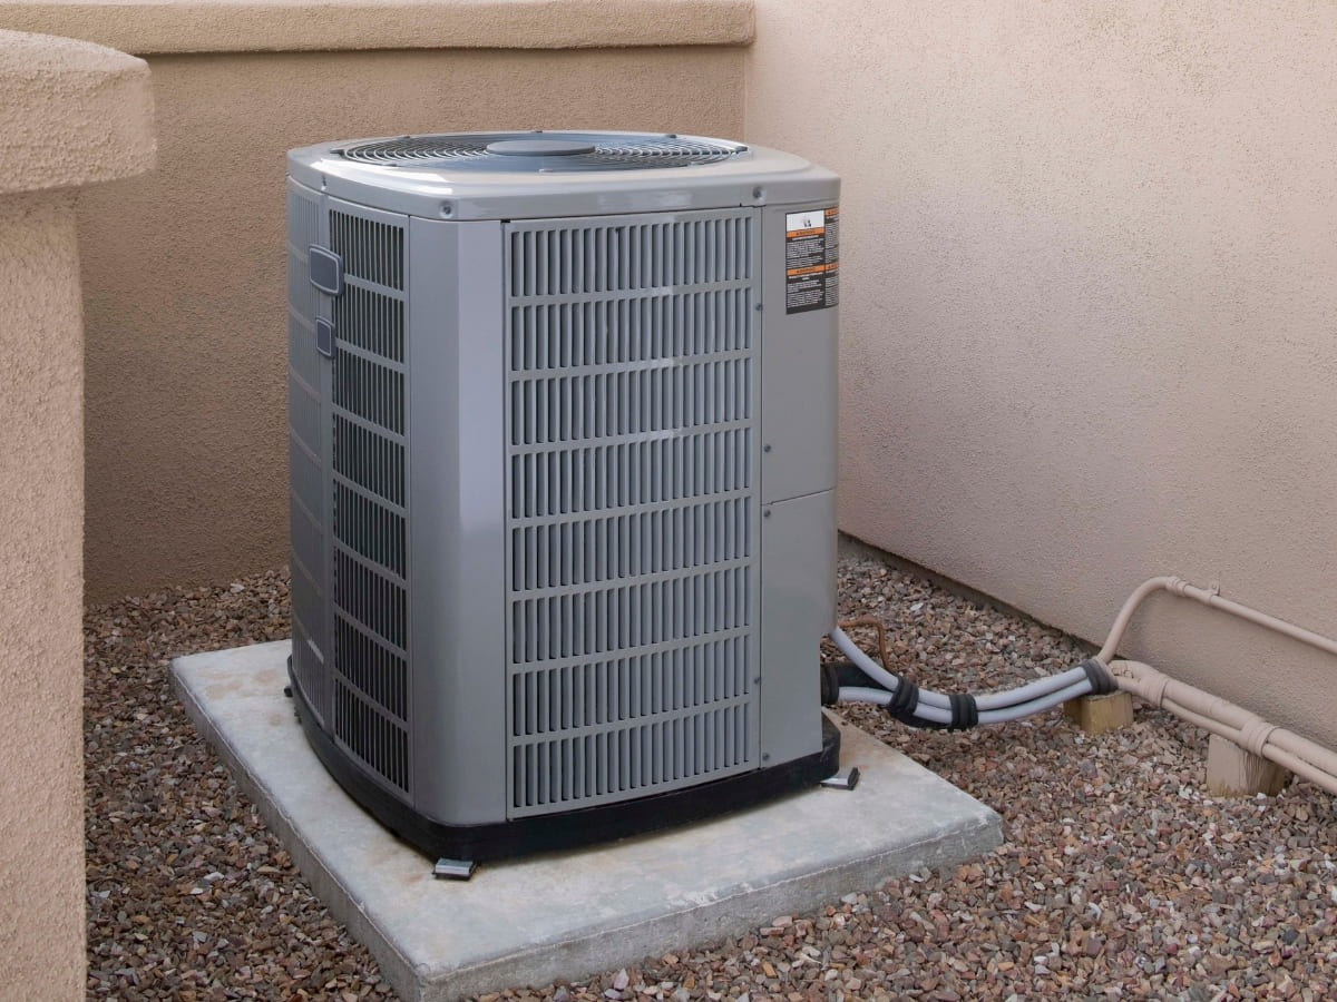
[{"label": "pale concrete slab under the air conditioning unit", "polygon": [[711,822],[480,866],[468,883],[389,835],[330,779],[282,695],[289,644],[172,663],[187,713],[330,912],[401,998],[547,985],[737,935],[1000,840],[984,804],[841,725],[853,791],[810,790]]}]

